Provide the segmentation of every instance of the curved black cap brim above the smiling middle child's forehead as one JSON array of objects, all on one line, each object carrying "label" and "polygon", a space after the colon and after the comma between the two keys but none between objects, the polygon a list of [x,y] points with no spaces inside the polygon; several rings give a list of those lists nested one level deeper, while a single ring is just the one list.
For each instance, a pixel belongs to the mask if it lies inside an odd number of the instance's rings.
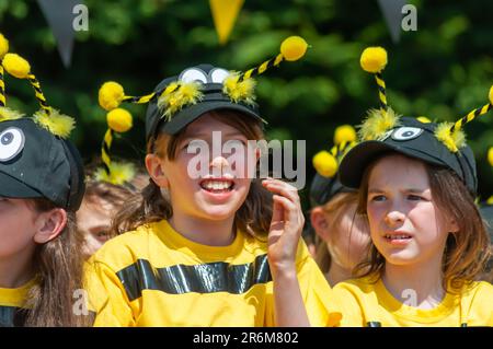
[{"label": "curved black cap brim above the smiling middle child's forehead", "polygon": [[176,135],[188,124],[196,120],[200,115],[218,109],[230,109],[240,112],[246,116],[251,116],[257,120],[261,120],[262,123],[266,123],[259,114],[256,114],[255,112],[253,112],[252,109],[248,108],[242,104],[237,104],[229,101],[210,101],[210,102],[204,101],[187,106],[183,110],[179,112],[176,115],[173,116],[171,121],[164,123],[160,127],[160,130],[169,135]]}]

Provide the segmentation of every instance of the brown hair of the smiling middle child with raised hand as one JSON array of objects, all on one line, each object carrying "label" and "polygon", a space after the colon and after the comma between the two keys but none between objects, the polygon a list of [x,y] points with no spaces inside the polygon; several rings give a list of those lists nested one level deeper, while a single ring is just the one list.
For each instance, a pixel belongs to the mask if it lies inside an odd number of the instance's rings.
[{"label": "brown hair of the smiling middle child with raised hand", "polygon": [[[249,140],[262,140],[264,135],[260,121],[229,109],[219,109],[208,113],[215,119],[232,126],[242,132]],[[163,159],[173,161],[176,149],[184,138],[186,128],[174,136],[159,133],[157,139],[150,139],[147,153],[153,153]],[[149,178],[149,185],[140,194],[133,196],[119,210],[113,221],[112,231],[121,234],[131,231],[140,225],[170,219],[173,209],[168,193]],[[238,229],[255,236],[268,233],[272,219],[272,195],[266,190],[260,178],[252,179],[250,191],[243,205],[236,213],[234,224]]]}]

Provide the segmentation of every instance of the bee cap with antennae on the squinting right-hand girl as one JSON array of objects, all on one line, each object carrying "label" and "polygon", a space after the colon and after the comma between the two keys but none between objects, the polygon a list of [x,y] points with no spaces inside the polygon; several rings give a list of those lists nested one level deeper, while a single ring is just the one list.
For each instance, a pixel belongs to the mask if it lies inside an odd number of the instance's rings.
[{"label": "bee cap with antennae on the squinting right-hand girl", "polygon": [[359,187],[365,168],[387,152],[394,151],[427,163],[454,171],[471,194],[475,195],[478,179],[472,150],[466,143],[463,126],[488,113],[493,104],[493,86],[490,103],[470,112],[456,123],[434,124],[423,119],[401,117],[387,104],[382,70],[387,65],[387,51],[381,47],[366,48],[360,58],[362,68],[375,74],[380,108],[370,109],[359,129],[362,143],[353,148],[340,165],[343,185]]}]

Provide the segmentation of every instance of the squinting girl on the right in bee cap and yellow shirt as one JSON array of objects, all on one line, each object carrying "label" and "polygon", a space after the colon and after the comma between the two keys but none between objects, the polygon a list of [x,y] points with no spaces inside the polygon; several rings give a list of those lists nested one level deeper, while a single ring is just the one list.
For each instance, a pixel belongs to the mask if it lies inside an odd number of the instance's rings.
[{"label": "squinting girl on the right in bee cap and yellow shirt", "polygon": [[343,326],[492,326],[493,287],[474,281],[489,236],[474,205],[475,162],[457,123],[399,117],[388,107],[381,70],[387,53],[368,48],[362,67],[376,74],[380,109],[370,110],[362,143],[343,159],[341,182],[359,188],[358,211],[371,236],[360,278],[337,284]]}]

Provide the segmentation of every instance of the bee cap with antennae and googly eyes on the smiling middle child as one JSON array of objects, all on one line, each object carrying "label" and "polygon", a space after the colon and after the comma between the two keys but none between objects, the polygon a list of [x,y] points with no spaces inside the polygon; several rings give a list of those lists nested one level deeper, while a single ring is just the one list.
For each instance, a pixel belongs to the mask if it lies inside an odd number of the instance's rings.
[{"label": "bee cap with antennae and googly eyes on the smiling middle child", "polygon": [[121,103],[149,104],[146,114],[146,139],[160,131],[175,135],[200,115],[215,109],[233,109],[264,121],[255,104],[255,75],[280,62],[303,57],[307,43],[299,36],[288,37],[280,53],[259,67],[245,72],[233,72],[210,65],[187,68],[177,77],[167,78],[152,93],[142,96],[126,95],[121,84],[106,82],[99,93],[100,105],[115,118],[124,117]]}]

